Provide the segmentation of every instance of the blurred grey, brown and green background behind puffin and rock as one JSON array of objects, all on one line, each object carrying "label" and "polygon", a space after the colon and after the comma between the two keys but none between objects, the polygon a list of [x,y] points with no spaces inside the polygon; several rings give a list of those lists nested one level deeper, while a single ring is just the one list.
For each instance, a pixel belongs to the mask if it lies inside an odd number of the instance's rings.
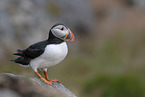
[{"label": "blurred grey, brown and green background behind puffin and rock", "polygon": [[12,53],[47,39],[55,23],[76,41],[50,78],[78,97],[145,97],[145,0],[0,0],[0,73],[37,77]]}]

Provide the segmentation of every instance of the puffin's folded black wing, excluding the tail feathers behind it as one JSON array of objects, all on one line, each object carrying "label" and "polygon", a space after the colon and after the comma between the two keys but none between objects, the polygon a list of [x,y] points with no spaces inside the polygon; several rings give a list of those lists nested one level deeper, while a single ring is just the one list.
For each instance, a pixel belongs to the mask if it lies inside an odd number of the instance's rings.
[{"label": "puffin's folded black wing, excluding the tail feathers behind it", "polygon": [[40,56],[44,52],[45,47],[47,45],[48,45],[47,40],[35,43],[35,44],[31,45],[30,47],[28,47],[27,49],[23,50],[23,55],[24,55],[24,57],[34,59],[34,58]]}]

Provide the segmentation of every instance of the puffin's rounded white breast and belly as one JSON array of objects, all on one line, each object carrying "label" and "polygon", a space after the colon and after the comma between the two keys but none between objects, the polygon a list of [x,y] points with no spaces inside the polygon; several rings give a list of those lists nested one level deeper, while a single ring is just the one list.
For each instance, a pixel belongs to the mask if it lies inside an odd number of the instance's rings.
[{"label": "puffin's rounded white breast and belly", "polygon": [[48,68],[61,62],[67,53],[68,48],[66,42],[47,45],[42,55],[31,60],[30,66],[35,71],[37,71],[37,68]]}]

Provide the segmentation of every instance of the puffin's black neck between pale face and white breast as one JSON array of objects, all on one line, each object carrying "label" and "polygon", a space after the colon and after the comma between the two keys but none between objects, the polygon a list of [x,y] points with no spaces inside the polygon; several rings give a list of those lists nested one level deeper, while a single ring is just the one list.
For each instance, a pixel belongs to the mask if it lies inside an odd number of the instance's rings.
[{"label": "puffin's black neck between pale face and white breast", "polygon": [[64,40],[54,36],[51,32],[51,30],[49,31],[49,37],[47,39],[47,41],[50,43],[50,44],[60,44],[62,42],[64,42]]}]

